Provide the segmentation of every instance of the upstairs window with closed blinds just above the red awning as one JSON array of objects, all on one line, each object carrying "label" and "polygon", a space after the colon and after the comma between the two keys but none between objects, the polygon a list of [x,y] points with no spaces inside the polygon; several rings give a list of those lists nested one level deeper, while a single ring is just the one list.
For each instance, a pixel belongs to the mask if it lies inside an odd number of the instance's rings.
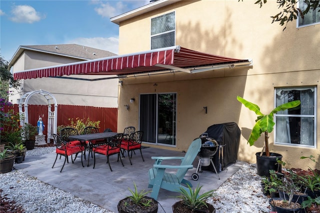
[{"label": "upstairs window with closed blinds just above the red awning", "polygon": [[175,12],[151,18],[151,49],[175,45]]}]

